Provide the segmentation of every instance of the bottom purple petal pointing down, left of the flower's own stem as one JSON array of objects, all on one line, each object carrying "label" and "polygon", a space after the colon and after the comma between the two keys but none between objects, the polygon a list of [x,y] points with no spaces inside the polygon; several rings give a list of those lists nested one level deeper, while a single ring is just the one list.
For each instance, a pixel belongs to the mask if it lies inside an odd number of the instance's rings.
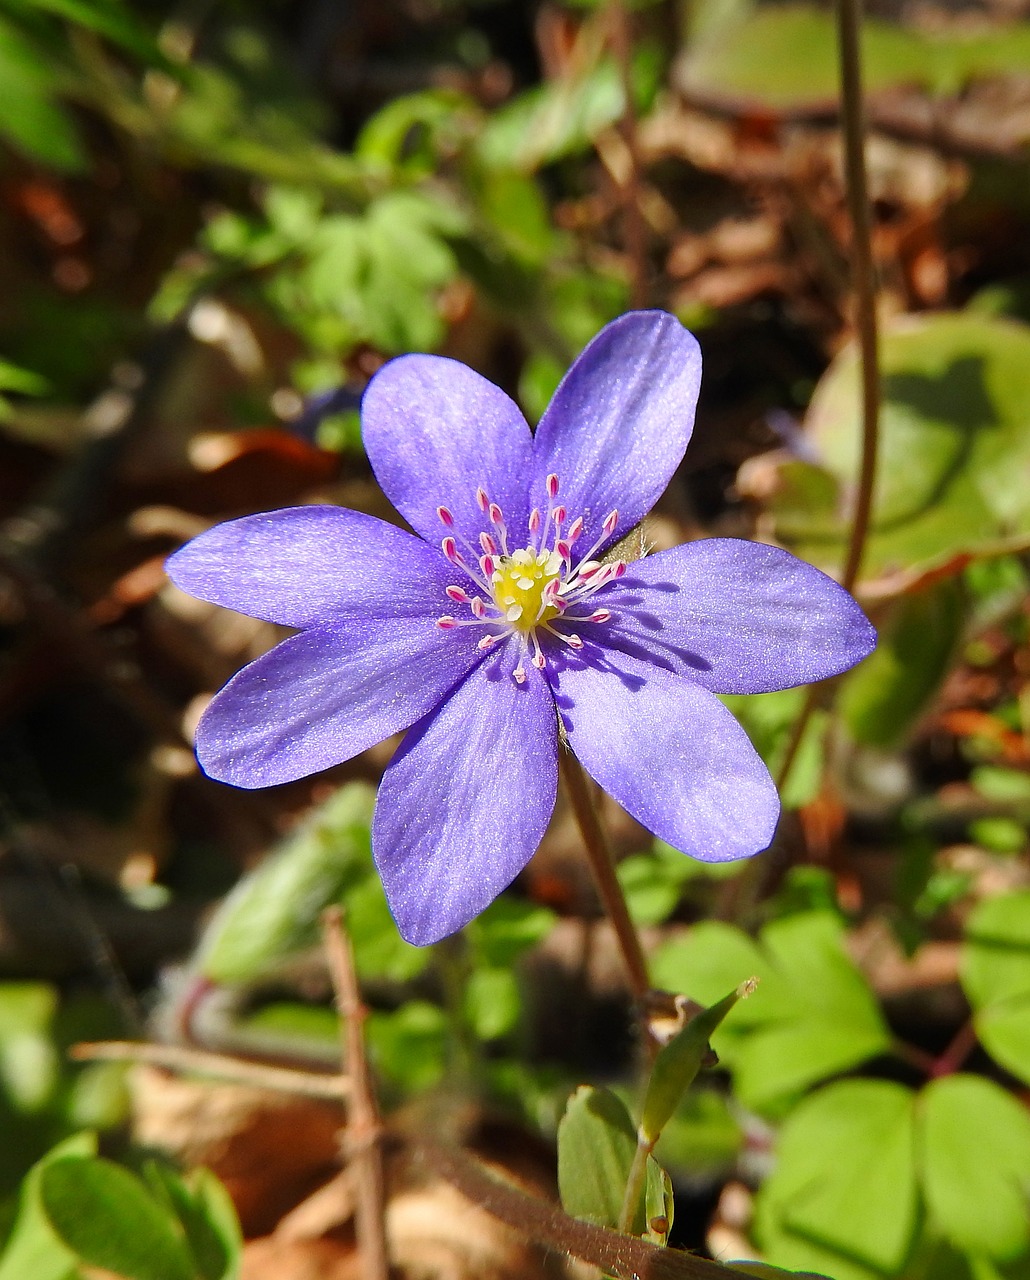
[{"label": "bottom purple petal pointing down, left of the flower's own stem", "polygon": [[411,730],[379,788],[372,854],[397,925],[418,946],[467,924],[514,879],[554,809],[554,701],[535,669],[512,680],[505,649]]}]

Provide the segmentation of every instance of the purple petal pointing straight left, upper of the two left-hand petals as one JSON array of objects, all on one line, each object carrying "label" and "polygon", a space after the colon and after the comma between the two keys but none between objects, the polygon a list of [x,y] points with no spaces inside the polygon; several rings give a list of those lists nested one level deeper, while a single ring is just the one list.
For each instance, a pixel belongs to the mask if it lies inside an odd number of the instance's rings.
[{"label": "purple petal pointing straight left, upper of the two left-hand petals", "polygon": [[434,547],[343,507],[287,507],[215,525],[166,568],[191,595],[288,627],[439,617],[450,609],[444,588],[456,581]]}]

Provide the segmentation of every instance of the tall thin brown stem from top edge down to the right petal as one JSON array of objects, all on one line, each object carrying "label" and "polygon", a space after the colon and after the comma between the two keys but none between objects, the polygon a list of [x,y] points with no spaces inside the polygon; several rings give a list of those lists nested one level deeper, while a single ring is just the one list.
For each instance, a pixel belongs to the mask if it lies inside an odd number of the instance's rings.
[{"label": "tall thin brown stem from top edge down to the right petal", "polygon": [[850,591],[859,579],[873,512],[880,416],[880,370],[876,344],[876,273],[873,264],[871,216],[865,174],[865,109],[860,46],[862,5],[861,0],[837,0],[836,9],[844,132],[844,186],[851,215],[852,283],[862,374],[862,458],[859,474],[859,497],[855,504],[842,579],[844,589]]}]

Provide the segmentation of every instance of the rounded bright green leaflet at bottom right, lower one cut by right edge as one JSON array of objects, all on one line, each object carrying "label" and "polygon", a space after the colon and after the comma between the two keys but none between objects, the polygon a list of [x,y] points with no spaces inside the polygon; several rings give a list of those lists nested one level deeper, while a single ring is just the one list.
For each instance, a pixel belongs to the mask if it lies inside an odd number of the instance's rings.
[{"label": "rounded bright green leaflet at bottom right, lower one cut by right edge", "polygon": [[1030,1115],[993,1080],[948,1075],[919,1098],[923,1188],[946,1240],[1012,1261],[1030,1244]]}]

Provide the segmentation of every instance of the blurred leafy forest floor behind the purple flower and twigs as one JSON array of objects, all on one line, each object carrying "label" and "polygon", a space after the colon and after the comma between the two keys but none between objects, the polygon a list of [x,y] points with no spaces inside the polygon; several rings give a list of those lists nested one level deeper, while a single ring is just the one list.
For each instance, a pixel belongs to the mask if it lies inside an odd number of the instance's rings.
[{"label": "blurred leafy forest floor behind the purple flower and twigs", "polygon": [[[656,982],[769,993],[660,1148],[673,1243],[717,1257],[1030,1275],[1026,18],[869,6],[884,384],[856,594],[880,649],[811,699],[727,699],[783,781],[755,861],[696,864],[605,804]],[[839,576],[860,404],[836,68],[833,14],[804,4],[0,0],[0,1280],[358,1274],[331,1102],[65,1056],[152,1036],[331,1070],[337,900],[398,1263],[564,1274],[406,1144],[429,1126],[553,1194],[569,1091],[628,1088],[571,817],[462,938],[408,947],[367,840],[395,742],[267,792],[206,780],[206,700],[281,632],[162,564],[271,507],[395,518],[358,426],[392,356],[466,361],[535,421],[598,329],[654,306],[705,381],[647,541],[759,538]],[[192,1261],[91,1253],[58,1178],[41,1207],[55,1149],[83,1176],[114,1157],[125,1215]]]}]

